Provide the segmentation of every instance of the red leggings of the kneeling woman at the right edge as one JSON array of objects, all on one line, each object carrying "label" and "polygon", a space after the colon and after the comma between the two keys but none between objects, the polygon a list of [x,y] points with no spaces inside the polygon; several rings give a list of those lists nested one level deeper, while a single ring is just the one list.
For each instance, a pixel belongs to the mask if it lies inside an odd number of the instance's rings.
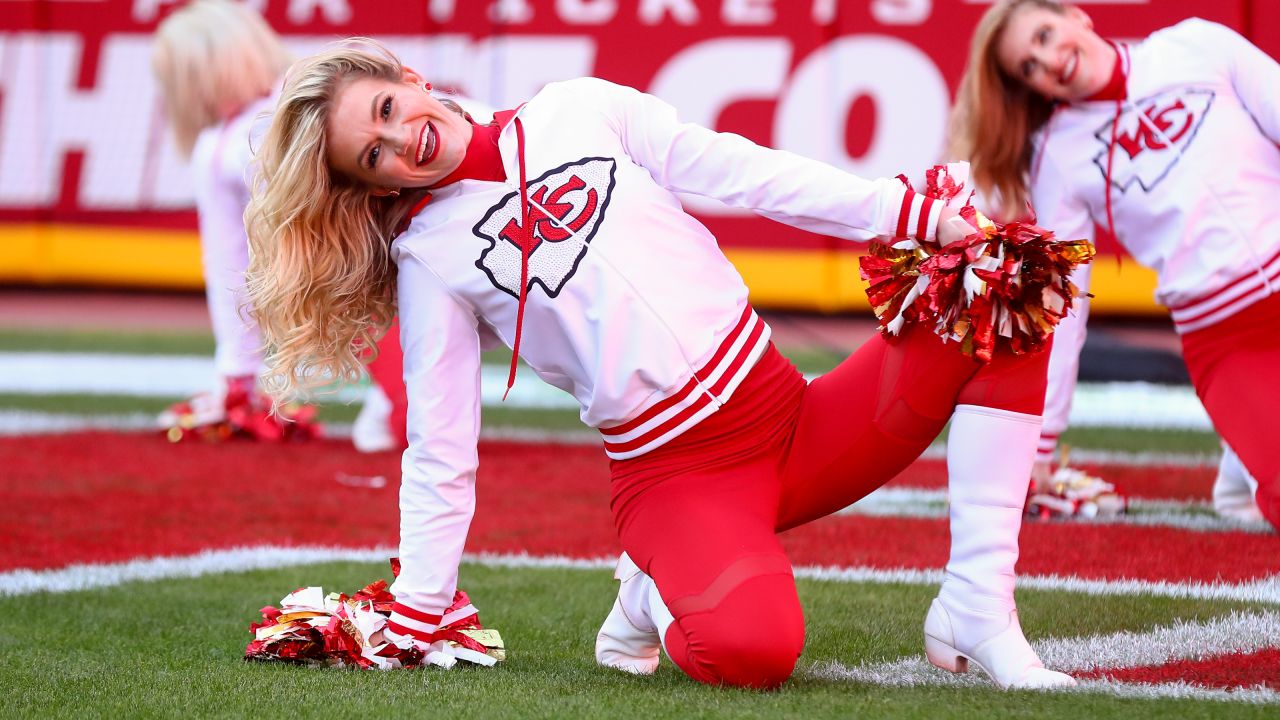
[{"label": "red leggings of the kneeling woman at the right edge", "polygon": [[1280,530],[1280,295],[1183,336],[1196,395],[1222,439],[1258,480],[1258,510]]}]

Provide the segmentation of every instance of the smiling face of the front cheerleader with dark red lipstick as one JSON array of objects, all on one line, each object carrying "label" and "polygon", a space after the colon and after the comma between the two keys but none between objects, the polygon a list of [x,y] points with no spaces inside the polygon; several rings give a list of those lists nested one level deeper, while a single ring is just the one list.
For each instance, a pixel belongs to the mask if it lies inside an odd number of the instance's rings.
[{"label": "smiling face of the front cheerleader with dark red lipstick", "polygon": [[326,132],[329,165],[376,195],[434,184],[462,164],[471,142],[471,123],[422,90],[412,70],[402,82],[346,83]]}]

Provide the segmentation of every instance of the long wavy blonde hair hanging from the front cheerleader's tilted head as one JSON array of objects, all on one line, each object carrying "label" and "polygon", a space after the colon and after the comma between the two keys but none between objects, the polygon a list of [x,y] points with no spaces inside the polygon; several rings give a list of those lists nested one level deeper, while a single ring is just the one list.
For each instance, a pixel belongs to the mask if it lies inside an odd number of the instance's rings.
[{"label": "long wavy blonde hair hanging from the front cheerleader's tilted head", "polygon": [[247,287],[276,400],[356,382],[396,313],[390,241],[420,192],[379,197],[328,164],[326,123],[353,79],[401,82],[385,47],[353,38],[289,68],[256,155]]}]

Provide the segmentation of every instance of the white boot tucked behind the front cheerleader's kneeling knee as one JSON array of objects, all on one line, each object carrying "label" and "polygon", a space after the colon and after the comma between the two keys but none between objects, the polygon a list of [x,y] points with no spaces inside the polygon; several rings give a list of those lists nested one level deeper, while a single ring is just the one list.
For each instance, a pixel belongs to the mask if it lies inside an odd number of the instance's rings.
[{"label": "white boot tucked behind the front cheerleader's kneeling knee", "polygon": [[636,675],[658,669],[663,638],[673,618],[658,594],[653,578],[645,575],[626,552],[613,573],[620,580],[618,597],[595,635],[595,661]]}]

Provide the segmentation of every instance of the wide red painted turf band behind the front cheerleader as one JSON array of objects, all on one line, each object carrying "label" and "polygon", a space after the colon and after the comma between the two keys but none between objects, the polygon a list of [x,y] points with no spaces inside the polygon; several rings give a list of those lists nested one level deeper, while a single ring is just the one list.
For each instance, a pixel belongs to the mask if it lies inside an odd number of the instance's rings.
[{"label": "wide red painted turf band behind the front cheerleader", "polygon": [[[398,454],[347,442],[168,445],[150,434],[0,438],[0,570],[187,555],[243,544],[394,546]],[[470,552],[618,551],[598,447],[484,442]],[[1128,469],[1108,477],[1128,482]],[[1147,470],[1143,470],[1146,473]],[[387,479],[349,487],[338,474]],[[1208,470],[1203,488],[1208,488]],[[941,462],[895,480],[933,484]],[[915,482],[915,479],[920,482]],[[932,479],[931,479],[932,478]],[[782,538],[799,565],[941,568],[943,519],[838,516]],[[1274,574],[1280,539],[1133,525],[1030,524],[1019,571],[1243,582]]]}]

